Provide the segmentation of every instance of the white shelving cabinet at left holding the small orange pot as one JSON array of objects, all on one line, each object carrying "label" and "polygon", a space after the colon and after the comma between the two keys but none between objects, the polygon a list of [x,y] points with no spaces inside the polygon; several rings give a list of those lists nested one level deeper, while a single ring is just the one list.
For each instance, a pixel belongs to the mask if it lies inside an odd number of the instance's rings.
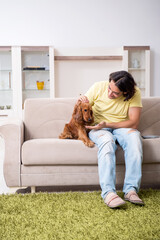
[{"label": "white shelving cabinet at left holding the small orange pot", "polygon": [[[43,89],[38,89],[37,81],[44,82]],[[22,117],[27,98],[54,96],[52,46],[0,47],[0,119]]]}]

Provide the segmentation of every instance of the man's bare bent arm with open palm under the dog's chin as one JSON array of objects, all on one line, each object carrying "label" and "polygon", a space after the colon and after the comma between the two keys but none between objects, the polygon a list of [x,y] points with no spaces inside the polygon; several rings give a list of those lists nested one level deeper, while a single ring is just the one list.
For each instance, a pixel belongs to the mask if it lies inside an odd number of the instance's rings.
[{"label": "man's bare bent arm with open palm under the dog's chin", "polygon": [[115,122],[115,123],[107,123],[107,122],[101,122],[97,124],[96,126],[86,126],[88,129],[95,129],[99,130],[102,128],[133,128],[137,129],[139,120],[140,120],[140,114],[141,114],[141,107],[130,107],[128,112],[128,120],[122,121],[122,122]]}]

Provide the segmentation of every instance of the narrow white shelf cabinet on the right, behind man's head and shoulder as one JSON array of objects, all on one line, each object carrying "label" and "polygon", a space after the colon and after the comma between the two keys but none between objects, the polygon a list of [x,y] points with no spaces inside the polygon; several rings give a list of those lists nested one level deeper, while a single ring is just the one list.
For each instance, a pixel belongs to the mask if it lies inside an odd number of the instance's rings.
[{"label": "narrow white shelf cabinet on the right, behind man's head and shoulder", "polygon": [[150,47],[124,46],[124,70],[130,72],[143,97],[150,96]]}]

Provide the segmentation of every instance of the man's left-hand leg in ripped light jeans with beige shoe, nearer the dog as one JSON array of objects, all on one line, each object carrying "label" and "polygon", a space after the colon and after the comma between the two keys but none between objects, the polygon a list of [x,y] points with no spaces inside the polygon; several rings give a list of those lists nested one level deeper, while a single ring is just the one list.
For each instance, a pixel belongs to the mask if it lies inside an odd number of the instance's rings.
[{"label": "man's left-hand leg in ripped light jeans with beige shoe, nearer the dog", "polygon": [[119,207],[125,202],[116,194],[115,183],[115,137],[111,129],[92,130],[90,139],[98,146],[98,172],[99,182],[102,189],[102,198],[111,207]]}]

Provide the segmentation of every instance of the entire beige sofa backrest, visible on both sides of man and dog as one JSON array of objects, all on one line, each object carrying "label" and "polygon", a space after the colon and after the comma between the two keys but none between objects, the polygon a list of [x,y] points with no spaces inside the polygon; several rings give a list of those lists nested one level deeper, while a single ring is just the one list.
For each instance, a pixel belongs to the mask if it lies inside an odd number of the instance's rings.
[{"label": "entire beige sofa backrest, visible on both sides of man and dog", "polygon": [[[70,121],[75,98],[27,99],[24,106],[25,140],[58,138]],[[142,98],[139,130],[142,135],[160,135],[160,97]]]}]

